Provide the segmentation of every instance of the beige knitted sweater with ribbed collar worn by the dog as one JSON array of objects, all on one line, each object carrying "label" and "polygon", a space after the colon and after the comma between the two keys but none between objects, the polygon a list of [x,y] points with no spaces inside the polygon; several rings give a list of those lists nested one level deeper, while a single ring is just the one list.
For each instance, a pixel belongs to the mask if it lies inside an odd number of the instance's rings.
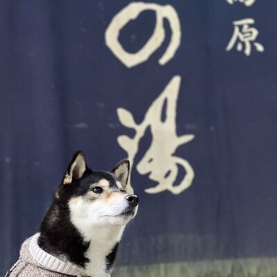
[{"label": "beige knitted sweater with ribbed collar worn by the dog", "polygon": [[86,276],[82,269],[71,262],[60,260],[42,250],[37,244],[39,233],[28,238],[20,250],[20,258],[8,271],[9,277],[73,277]]}]

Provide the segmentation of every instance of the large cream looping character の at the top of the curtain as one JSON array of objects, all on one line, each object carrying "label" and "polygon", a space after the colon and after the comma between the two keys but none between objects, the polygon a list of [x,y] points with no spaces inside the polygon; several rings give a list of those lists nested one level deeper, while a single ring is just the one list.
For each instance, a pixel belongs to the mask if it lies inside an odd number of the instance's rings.
[{"label": "large cream looping character \u306e at the top of the curtain", "polygon": [[[136,53],[127,52],[120,44],[118,37],[122,30],[131,20],[139,17],[144,10],[154,10],[156,12],[156,25],[154,32],[148,42]],[[164,65],[179,48],[181,43],[181,24],[178,14],[170,5],[161,6],[156,3],[132,2],[123,10],[120,10],[111,20],[106,33],[105,42],[112,53],[127,67],[136,66],[149,59],[150,55],[157,51],[166,38],[166,30],[163,26],[163,20],[168,19],[171,29],[170,43],[163,56],[159,59],[159,64]]]}]

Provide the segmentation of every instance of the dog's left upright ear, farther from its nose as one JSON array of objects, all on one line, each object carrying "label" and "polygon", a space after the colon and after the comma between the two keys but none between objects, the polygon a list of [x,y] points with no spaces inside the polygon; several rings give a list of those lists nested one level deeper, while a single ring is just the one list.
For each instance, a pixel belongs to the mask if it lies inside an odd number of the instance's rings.
[{"label": "dog's left upright ear, farther from its nose", "polygon": [[84,171],[87,169],[86,161],[84,160],[84,154],[81,151],[77,151],[69,167],[64,175],[63,185],[69,185],[73,180],[80,179],[84,175]]}]

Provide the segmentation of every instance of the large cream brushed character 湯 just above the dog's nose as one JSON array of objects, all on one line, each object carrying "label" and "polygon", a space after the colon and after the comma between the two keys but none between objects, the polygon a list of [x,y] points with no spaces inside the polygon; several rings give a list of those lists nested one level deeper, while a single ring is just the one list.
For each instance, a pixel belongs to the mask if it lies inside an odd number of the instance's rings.
[{"label": "large cream brushed character \u6e6f just above the dog's nose", "polygon": [[[177,136],[177,98],[180,84],[181,77],[178,75],[173,77],[161,95],[152,102],[141,123],[136,123],[127,109],[119,108],[117,110],[120,123],[136,132],[133,138],[125,135],[118,136],[118,144],[127,152],[131,164],[134,163],[136,154],[139,152],[141,139],[150,127],[151,145],[136,166],[136,170],[141,175],[149,174],[149,179],[157,182],[157,186],[145,189],[146,193],[161,193],[164,190],[169,190],[177,195],[192,184],[195,176],[190,163],[175,155],[175,151],[180,145],[195,138],[193,134]],[[166,106],[166,118],[163,120],[164,106]],[[179,166],[184,168],[185,175],[179,184],[175,185]],[[132,192],[130,181],[127,189]]]}]

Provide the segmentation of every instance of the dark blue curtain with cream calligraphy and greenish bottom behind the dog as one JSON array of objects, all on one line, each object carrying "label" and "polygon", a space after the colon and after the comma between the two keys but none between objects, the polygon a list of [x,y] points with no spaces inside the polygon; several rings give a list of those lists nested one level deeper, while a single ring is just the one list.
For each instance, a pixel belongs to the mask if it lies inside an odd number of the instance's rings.
[{"label": "dark blue curtain with cream calligraphy and greenish bottom behind the dog", "polygon": [[1,276],[75,150],[132,161],[114,276],[277,274],[277,1],[141,5],[1,1]]}]

